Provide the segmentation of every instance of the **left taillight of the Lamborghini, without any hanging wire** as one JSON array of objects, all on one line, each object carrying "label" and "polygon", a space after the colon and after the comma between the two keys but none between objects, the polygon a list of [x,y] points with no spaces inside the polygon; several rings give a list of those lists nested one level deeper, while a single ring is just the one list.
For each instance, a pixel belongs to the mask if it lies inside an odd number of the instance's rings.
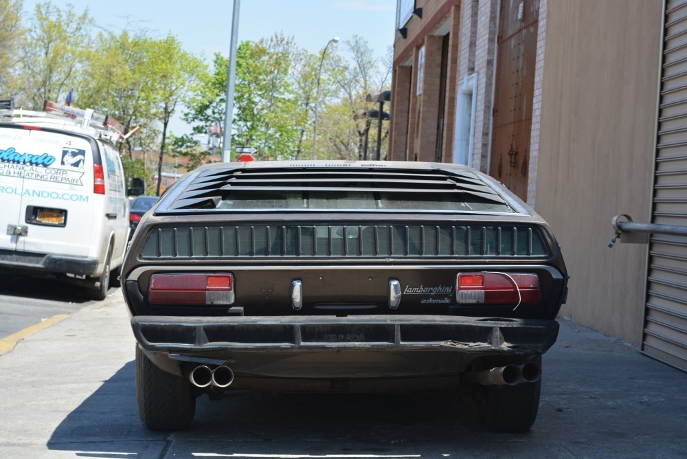
[{"label": "left taillight of the Lamborghini, without any hanging wire", "polygon": [[234,276],[229,273],[154,274],[150,304],[234,304]]}]

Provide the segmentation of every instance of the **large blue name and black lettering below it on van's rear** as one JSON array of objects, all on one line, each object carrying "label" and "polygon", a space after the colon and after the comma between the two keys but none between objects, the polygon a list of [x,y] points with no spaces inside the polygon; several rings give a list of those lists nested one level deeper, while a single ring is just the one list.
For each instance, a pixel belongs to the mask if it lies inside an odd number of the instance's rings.
[{"label": "large blue name and black lettering below it on van's rear", "polygon": [[[85,150],[81,151],[85,153]],[[84,172],[49,167],[55,161],[56,158],[47,153],[43,153],[41,156],[27,153],[20,155],[14,148],[10,147],[6,150],[0,150],[0,175],[83,186],[81,178]]]}]

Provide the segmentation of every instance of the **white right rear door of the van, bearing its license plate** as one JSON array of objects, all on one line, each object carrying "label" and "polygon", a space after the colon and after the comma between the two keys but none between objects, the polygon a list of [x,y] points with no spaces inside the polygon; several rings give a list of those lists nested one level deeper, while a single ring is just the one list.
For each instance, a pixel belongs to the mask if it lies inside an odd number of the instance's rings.
[{"label": "white right rear door of the van, bearing its license plate", "polygon": [[[21,192],[13,195],[19,202],[17,220],[26,229],[15,240],[16,250],[89,256],[93,211],[98,204],[102,206],[102,202],[94,202],[93,196],[95,142],[47,129],[5,131],[14,131],[20,137],[10,147],[5,142],[5,155],[0,157],[2,179],[8,179],[7,172],[13,171],[23,182]],[[16,154],[8,155],[7,148],[13,148]],[[4,195],[8,195],[7,190]]]}]

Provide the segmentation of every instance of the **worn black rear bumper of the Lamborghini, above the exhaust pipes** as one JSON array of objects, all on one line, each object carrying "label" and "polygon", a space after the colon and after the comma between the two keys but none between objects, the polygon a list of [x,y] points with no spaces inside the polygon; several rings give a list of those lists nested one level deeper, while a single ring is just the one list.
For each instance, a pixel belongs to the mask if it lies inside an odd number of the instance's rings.
[{"label": "worn black rear bumper of the Lamborghini, above the exhaust pipes", "polygon": [[554,320],[437,315],[284,317],[135,316],[148,351],[193,355],[227,350],[444,350],[474,355],[534,355],[558,337]]}]

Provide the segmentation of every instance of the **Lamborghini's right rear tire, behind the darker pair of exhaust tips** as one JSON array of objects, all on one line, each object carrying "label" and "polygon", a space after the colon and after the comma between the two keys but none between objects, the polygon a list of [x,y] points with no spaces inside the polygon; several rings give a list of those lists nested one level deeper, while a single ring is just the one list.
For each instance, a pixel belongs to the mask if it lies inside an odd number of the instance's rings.
[{"label": "Lamborghini's right rear tire, behind the darker pair of exhaust tips", "polygon": [[540,393],[541,379],[518,385],[484,386],[484,427],[492,432],[528,431],[537,419]]}]

